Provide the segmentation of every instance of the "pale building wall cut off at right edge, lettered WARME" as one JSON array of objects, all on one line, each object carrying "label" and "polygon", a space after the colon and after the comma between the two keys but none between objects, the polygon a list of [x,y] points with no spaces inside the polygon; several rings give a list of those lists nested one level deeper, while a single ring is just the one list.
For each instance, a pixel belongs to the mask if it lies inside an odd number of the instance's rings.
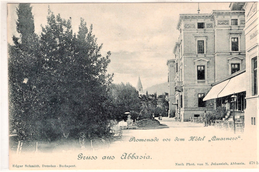
[{"label": "pale building wall cut off at right edge, lettered WARME", "polygon": [[[245,109],[245,131],[248,131],[249,137],[258,138],[258,2],[247,2],[243,9],[245,10],[245,44],[246,44],[246,109]],[[258,146],[258,141],[257,141]],[[257,155],[259,151],[257,149]]]}]

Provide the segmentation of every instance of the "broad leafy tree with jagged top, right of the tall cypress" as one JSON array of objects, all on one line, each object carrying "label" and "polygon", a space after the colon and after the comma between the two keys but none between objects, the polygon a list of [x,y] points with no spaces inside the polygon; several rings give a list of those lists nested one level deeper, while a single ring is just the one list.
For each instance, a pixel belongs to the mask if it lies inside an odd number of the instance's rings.
[{"label": "broad leafy tree with jagged top, right of the tall cypress", "polygon": [[50,10],[47,20],[40,44],[45,58],[43,89],[48,95],[47,114],[42,117],[55,127],[48,133],[107,132],[107,114],[102,105],[112,81],[112,76],[106,74],[110,52],[101,56],[102,46],[97,45],[92,26],[88,29],[83,19],[78,34],[73,34],[70,20],[55,17]]}]

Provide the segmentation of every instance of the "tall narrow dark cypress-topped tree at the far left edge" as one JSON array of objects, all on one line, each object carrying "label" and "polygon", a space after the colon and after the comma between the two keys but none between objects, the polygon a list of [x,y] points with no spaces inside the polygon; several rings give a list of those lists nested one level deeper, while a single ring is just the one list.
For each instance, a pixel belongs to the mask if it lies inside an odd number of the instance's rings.
[{"label": "tall narrow dark cypress-topped tree at the far left edge", "polygon": [[10,131],[17,131],[20,140],[31,143],[40,133],[35,125],[41,105],[36,87],[41,69],[39,40],[34,33],[30,4],[19,4],[17,15],[20,37],[13,36],[14,45],[8,45],[9,127]]}]

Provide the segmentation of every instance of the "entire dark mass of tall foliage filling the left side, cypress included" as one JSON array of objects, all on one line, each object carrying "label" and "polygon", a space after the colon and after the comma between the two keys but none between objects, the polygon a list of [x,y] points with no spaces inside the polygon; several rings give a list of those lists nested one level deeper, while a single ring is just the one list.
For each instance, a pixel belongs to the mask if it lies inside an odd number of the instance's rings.
[{"label": "entire dark mass of tall foliage filling the left side, cypress included", "polygon": [[88,29],[81,18],[73,34],[71,20],[55,17],[49,9],[38,37],[30,23],[30,5],[20,4],[17,14],[20,37],[8,45],[10,131],[16,129],[19,140],[30,145],[66,134],[77,137],[79,132],[107,134],[111,53],[101,56],[92,25]]}]

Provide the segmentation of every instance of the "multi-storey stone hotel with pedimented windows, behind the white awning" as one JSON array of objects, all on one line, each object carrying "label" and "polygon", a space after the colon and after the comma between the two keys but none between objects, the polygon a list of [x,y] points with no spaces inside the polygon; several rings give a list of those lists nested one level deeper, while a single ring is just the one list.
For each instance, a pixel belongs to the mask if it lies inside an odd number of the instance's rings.
[{"label": "multi-storey stone hotel with pedimented windows, behind the white awning", "polygon": [[216,108],[216,100],[203,101],[211,84],[245,69],[244,27],[243,10],[179,15],[179,38],[173,49],[176,101],[170,106],[175,106],[181,121]]}]

